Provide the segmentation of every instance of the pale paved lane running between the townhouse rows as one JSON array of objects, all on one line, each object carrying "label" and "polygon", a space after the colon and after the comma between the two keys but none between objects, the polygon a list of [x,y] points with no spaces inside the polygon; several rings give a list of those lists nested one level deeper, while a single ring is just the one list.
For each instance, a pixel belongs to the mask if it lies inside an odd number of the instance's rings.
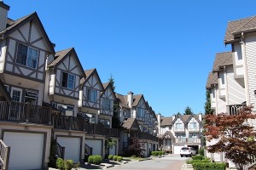
[{"label": "pale paved lane running between the townhouse rows", "polygon": [[109,168],[109,170],[180,170],[186,159],[188,158],[180,157],[179,155],[167,155],[148,161],[132,161],[118,167]]}]

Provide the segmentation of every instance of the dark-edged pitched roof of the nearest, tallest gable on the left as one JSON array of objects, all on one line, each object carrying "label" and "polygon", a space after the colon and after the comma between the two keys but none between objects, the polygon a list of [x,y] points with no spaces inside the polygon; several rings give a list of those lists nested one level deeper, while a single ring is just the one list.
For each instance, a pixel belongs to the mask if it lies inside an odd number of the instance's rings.
[{"label": "dark-edged pitched roof of the nearest, tallest gable on the left", "polygon": [[4,37],[9,36],[9,34],[11,34],[12,32],[16,31],[17,28],[20,28],[20,26],[25,25],[27,22],[31,21],[31,20],[35,20],[38,24],[38,28],[41,31],[41,33],[44,36],[44,40],[46,42],[46,44],[49,47],[49,51],[51,52],[51,54],[55,54],[55,49],[53,47],[53,44],[49,41],[49,37],[46,33],[46,31],[44,30],[44,26],[41,22],[41,20],[38,17],[38,14],[36,12],[32,13],[32,14],[28,14],[18,20],[7,20],[7,27],[6,29],[4,29],[3,31],[0,32],[0,35]]}]

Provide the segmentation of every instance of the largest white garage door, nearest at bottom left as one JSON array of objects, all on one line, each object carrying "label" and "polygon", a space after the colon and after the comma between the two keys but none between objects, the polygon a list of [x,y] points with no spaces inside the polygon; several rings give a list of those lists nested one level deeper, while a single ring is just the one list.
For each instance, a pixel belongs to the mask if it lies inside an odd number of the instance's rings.
[{"label": "largest white garage door, nearest at bottom left", "polygon": [[3,142],[10,146],[10,170],[42,168],[44,134],[5,132]]}]

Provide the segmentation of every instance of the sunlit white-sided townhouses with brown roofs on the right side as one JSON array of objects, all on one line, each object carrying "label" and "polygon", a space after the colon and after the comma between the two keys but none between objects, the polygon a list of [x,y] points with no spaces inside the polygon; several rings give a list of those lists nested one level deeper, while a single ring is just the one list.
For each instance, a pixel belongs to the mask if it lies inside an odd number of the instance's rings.
[{"label": "sunlit white-sided townhouses with brown roofs on the right side", "polygon": [[[207,79],[211,108],[216,114],[236,115],[244,105],[253,105],[256,113],[256,16],[228,23],[224,44],[231,51],[215,56]],[[249,121],[256,127],[255,120]],[[207,145],[215,143],[207,142]],[[215,161],[224,161],[224,153],[207,153]],[[230,167],[235,167],[230,162]]]}]

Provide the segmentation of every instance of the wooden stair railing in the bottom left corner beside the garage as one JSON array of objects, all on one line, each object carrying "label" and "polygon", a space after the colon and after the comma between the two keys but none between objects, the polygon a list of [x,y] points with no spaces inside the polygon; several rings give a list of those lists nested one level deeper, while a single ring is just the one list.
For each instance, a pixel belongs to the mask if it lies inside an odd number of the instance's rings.
[{"label": "wooden stair railing in the bottom left corner beside the garage", "polygon": [[3,163],[3,169],[8,170],[9,168],[9,152],[10,147],[3,143],[0,139],[0,161]]}]

